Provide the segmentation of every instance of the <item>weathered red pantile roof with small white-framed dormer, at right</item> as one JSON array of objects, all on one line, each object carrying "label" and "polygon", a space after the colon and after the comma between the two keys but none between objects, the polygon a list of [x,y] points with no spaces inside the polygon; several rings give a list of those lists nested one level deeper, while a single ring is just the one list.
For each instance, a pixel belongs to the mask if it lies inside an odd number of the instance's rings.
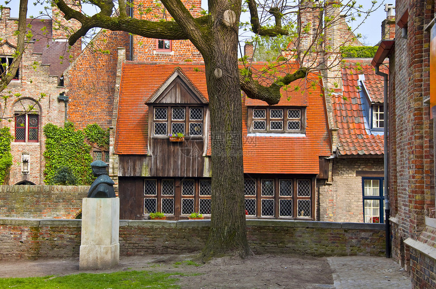
[{"label": "weathered red pantile roof with small white-framed dormer, at right", "polygon": [[365,127],[364,106],[360,97],[361,74],[365,75],[365,87],[371,99],[383,102],[383,78],[375,75],[373,66],[354,64],[342,68],[343,95],[332,95],[335,125],[339,128],[339,155],[383,154],[383,135],[373,135],[367,130],[368,124]]}]

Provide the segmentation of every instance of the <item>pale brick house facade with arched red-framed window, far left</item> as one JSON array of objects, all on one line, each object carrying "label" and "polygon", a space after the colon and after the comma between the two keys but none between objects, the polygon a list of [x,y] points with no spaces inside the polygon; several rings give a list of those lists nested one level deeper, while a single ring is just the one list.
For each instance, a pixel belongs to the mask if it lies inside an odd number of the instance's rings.
[{"label": "pale brick house facade with arched red-framed window, far left", "polygon": [[[10,8],[2,9],[0,19],[0,37],[4,39],[0,44],[3,63],[12,59],[15,53],[17,39],[13,33],[18,28],[18,19],[10,18]],[[81,45],[78,43],[68,49],[66,40],[62,39],[65,35],[58,33],[58,38],[55,38],[52,34],[49,19],[27,19],[27,24],[33,36],[25,49],[16,79],[1,93],[2,96],[12,96],[6,105],[0,105],[5,117],[0,127],[9,127],[15,137],[11,143],[13,166],[9,184],[23,181],[43,184],[45,138],[42,128],[49,122],[63,125],[64,103],[58,100],[58,96],[65,92],[65,88],[60,79],[69,64],[69,55],[77,55]],[[42,94],[44,97],[41,98]],[[33,107],[30,112],[27,111],[29,106]]]}]

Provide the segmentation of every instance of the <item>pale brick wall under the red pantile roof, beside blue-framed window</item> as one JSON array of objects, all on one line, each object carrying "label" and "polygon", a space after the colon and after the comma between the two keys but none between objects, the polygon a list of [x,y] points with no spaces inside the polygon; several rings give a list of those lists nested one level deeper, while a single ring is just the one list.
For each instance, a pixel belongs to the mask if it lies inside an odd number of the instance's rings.
[{"label": "pale brick wall under the red pantile roof, beside blue-framed window", "polygon": [[362,177],[356,171],[383,171],[383,158],[335,158],[333,184],[319,187],[319,221],[364,222]]}]

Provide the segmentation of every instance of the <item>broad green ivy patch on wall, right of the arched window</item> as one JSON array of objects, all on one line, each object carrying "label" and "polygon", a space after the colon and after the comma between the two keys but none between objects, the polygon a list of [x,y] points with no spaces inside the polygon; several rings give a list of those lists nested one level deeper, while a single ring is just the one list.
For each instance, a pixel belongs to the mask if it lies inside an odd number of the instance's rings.
[{"label": "broad green ivy patch on wall, right of the arched window", "polygon": [[44,134],[46,136],[44,182],[48,185],[67,185],[68,178],[59,179],[59,175],[69,171],[74,174],[76,184],[90,185],[95,179],[90,166],[91,146],[85,143],[83,132],[76,131],[72,122],[65,122],[63,128],[48,123],[44,126]]}]

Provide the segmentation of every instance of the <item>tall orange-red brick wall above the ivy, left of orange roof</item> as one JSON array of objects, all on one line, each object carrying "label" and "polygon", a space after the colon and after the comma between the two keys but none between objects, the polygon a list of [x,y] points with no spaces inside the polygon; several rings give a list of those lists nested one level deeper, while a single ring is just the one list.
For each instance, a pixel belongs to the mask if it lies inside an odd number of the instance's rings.
[{"label": "tall orange-red brick wall above the ivy, left of orange roof", "polygon": [[129,35],[120,31],[101,31],[82,54],[65,70],[68,88],[68,120],[77,129],[91,123],[112,126],[118,48],[129,57]]}]

